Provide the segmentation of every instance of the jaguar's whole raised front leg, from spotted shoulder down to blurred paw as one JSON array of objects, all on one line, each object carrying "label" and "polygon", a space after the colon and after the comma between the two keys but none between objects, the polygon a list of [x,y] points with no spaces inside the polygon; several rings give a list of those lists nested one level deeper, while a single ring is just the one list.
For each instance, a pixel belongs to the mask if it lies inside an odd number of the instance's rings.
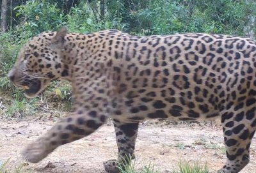
[{"label": "jaguar's whole raised front leg, from spotted shoulder down to blurred paw", "polygon": [[113,85],[106,75],[88,79],[78,75],[72,83],[74,112],[56,123],[43,137],[22,152],[28,162],[39,162],[56,147],[86,137],[95,132],[109,117]]}]

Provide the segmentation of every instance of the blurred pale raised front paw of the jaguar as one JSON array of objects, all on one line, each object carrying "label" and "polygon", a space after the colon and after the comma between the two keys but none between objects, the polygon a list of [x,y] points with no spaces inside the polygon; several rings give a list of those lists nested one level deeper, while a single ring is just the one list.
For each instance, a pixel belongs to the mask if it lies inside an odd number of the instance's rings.
[{"label": "blurred pale raised front paw of the jaguar", "polygon": [[51,153],[51,151],[52,149],[47,149],[44,142],[38,140],[32,144],[29,144],[21,154],[22,157],[28,162],[37,163]]}]

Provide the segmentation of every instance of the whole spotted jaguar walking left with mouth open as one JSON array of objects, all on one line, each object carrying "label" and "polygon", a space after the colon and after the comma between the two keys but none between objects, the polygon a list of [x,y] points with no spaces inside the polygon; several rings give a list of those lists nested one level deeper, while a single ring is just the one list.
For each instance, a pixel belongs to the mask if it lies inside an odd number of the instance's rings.
[{"label": "whole spotted jaguar walking left with mouth open", "polygon": [[[115,29],[82,34],[67,27],[38,34],[20,49],[8,77],[29,98],[52,80],[69,80],[73,109],[22,154],[39,162],[111,117],[120,163],[134,158],[145,119],[220,118],[227,162],[218,172],[240,172],[250,161],[255,133],[255,67],[255,41],[239,36],[132,36]],[[116,162],[104,162],[105,170],[118,172]]]}]

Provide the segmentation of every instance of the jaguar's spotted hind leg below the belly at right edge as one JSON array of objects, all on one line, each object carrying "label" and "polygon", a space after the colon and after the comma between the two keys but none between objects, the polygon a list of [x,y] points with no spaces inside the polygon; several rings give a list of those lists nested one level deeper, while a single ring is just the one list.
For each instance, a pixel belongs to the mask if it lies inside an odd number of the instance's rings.
[{"label": "jaguar's spotted hind leg below the belly at right edge", "polygon": [[221,173],[237,173],[250,161],[250,144],[255,133],[255,109],[226,112],[221,117],[227,154]]}]

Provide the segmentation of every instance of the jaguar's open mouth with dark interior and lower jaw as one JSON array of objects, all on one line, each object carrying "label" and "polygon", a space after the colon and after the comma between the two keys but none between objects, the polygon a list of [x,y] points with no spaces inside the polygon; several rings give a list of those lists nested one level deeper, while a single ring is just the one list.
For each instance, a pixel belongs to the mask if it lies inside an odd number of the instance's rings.
[{"label": "jaguar's open mouth with dark interior and lower jaw", "polygon": [[29,82],[24,82],[22,87],[26,96],[33,97],[40,91],[41,82],[40,80],[31,80]]}]

